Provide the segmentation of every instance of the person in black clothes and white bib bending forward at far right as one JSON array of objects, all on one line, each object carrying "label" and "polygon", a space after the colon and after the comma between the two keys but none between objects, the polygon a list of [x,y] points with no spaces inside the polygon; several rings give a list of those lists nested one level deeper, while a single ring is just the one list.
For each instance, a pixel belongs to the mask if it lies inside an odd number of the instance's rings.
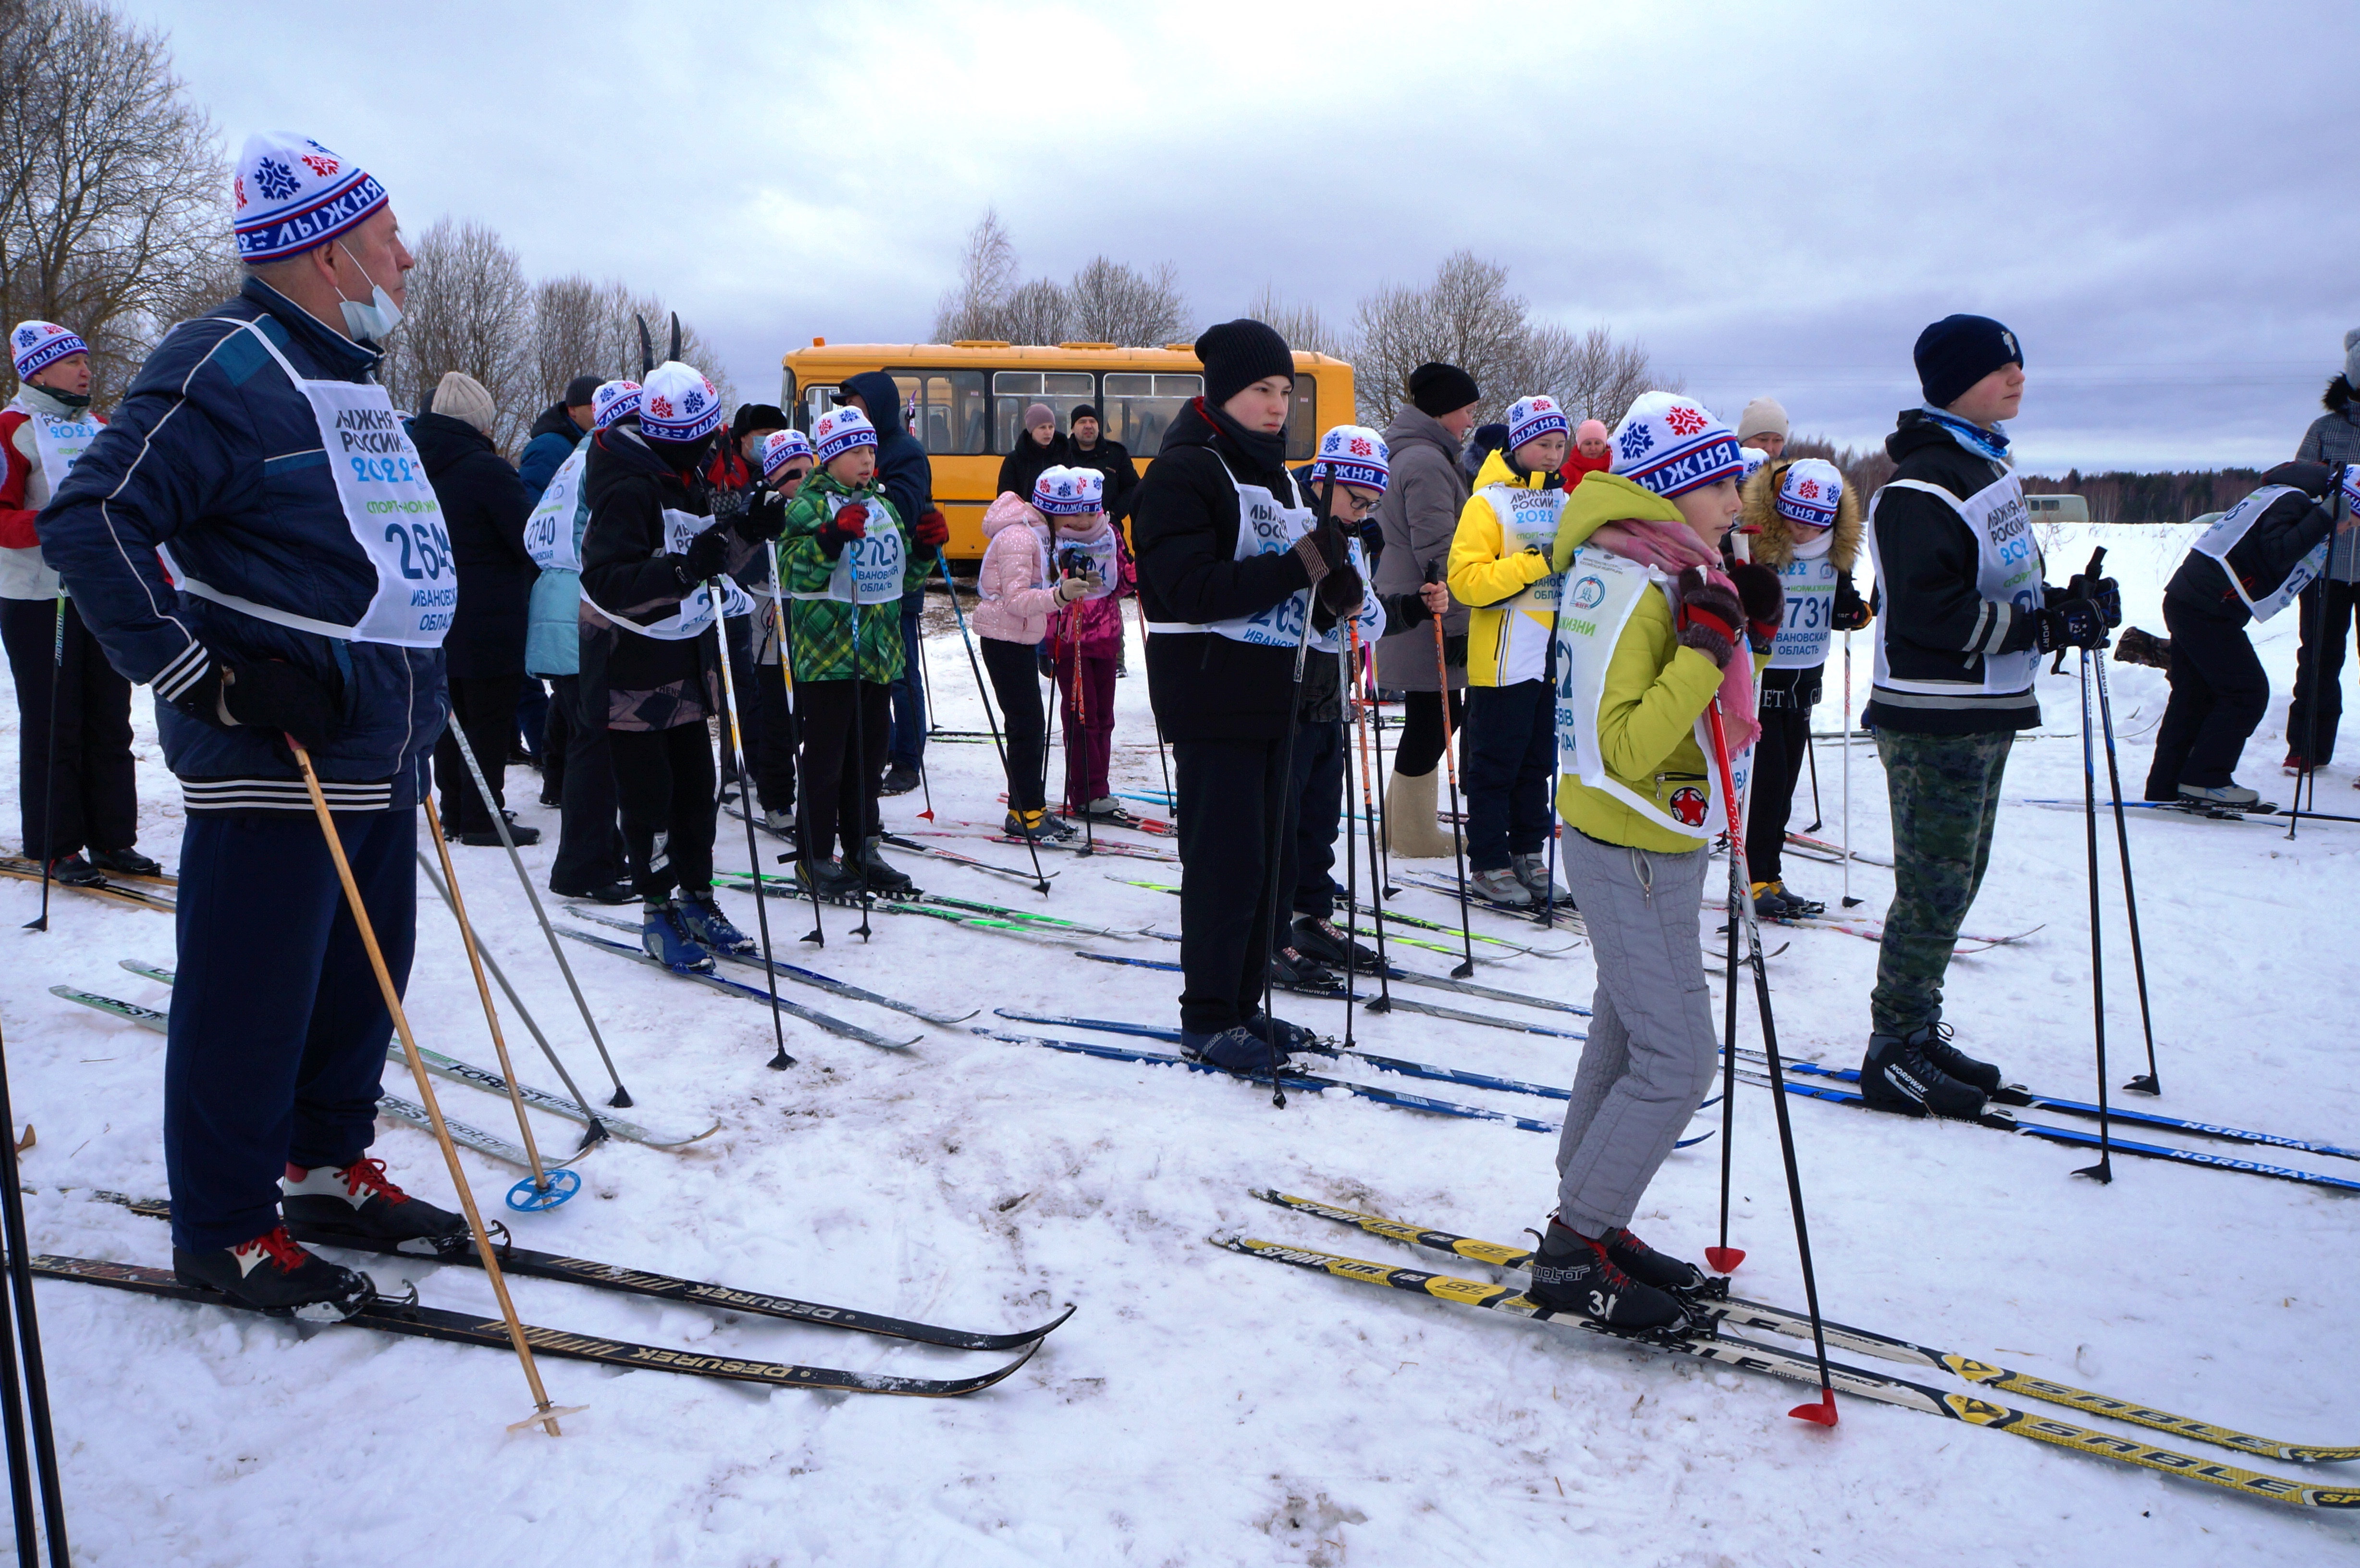
[{"label": "person in black clothes and white bib bending forward at far right", "polygon": [[[2188,548],[2164,588],[2171,628],[2171,704],[2155,732],[2148,798],[2197,810],[2251,810],[2261,796],[2230,775],[2270,706],[2247,621],[2268,621],[2301,597],[2327,564],[2327,536],[2353,529],[2360,465],[2280,463],[2259,491],[2221,515]],[[2301,734],[2294,744],[2301,746]],[[2273,810],[2261,805],[2261,810]]]}]

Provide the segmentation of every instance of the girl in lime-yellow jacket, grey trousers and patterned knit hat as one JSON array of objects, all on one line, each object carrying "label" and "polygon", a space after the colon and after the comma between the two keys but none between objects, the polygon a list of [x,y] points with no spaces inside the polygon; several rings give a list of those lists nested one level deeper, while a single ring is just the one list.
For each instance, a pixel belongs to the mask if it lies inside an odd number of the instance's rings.
[{"label": "girl in lime-yellow jacket, grey trousers and patterned knit hat", "polygon": [[1614,430],[1614,470],[1567,491],[1555,727],[1560,862],[1598,954],[1591,1037],[1558,1141],[1558,1214],[1532,1296],[1612,1327],[1685,1320],[1704,1270],[1631,1235],[1631,1216],[1713,1082],[1718,1041],[1697,909],[1725,815],[1702,734],[1720,699],[1732,751],[1753,739],[1753,671],[1782,590],[1723,576],[1737,520],[1737,435],[1702,404],[1647,392]]}]

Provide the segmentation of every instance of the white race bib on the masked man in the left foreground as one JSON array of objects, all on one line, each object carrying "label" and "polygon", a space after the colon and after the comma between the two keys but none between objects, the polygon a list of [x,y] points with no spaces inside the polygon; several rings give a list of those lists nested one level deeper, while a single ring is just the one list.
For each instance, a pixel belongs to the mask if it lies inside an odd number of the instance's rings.
[{"label": "white race bib on the masked man in the left foreground", "polygon": [[458,567],[451,562],[451,534],[444,529],[441,503],[427,484],[427,465],[411,446],[385,387],[373,380],[304,380],[253,321],[241,324],[255,342],[278,361],[295,390],[312,404],[319,439],[328,453],[335,496],[345,505],[345,527],[378,574],[378,590],[359,621],[340,626],[257,605],[189,576],[170,550],[163,553],[179,590],[262,621],[293,626],[347,642],[389,642],[394,647],[441,647],[458,609]]}]

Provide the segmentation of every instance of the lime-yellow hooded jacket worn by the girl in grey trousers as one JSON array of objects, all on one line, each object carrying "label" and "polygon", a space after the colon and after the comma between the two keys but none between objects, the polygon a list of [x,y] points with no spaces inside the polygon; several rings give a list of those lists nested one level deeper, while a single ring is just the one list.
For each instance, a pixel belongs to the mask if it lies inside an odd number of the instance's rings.
[{"label": "lime-yellow hooded jacket worn by the girl in grey trousers", "polygon": [[[1574,548],[1600,527],[1624,520],[1680,527],[1680,508],[1621,475],[1586,475],[1565,498],[1551,562],[1572,562]],[[1753,668],[1768,659],[1756,654]],[[1607,659],[1598,697],[1598,753],[1624,789],[1647,796],[1666,817],[1680,789],[1704,789],[1711,760],[1697,744],[1697,720],[1720,692],[1720,666],[1683,647],[1671,626],[1671,600],[1650,588],[1638,595],[1631,619]],[[1702,841],[1650,822],[1602,789],[1591,789],[1567,770],[1558,779],[1558,815],[1605,843],[1683,855]]]}]

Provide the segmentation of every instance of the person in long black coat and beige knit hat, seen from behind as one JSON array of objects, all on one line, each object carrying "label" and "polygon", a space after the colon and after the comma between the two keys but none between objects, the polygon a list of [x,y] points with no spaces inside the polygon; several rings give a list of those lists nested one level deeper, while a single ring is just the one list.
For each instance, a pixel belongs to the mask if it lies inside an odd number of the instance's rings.
[{"label": "person in long black coat and beige knit hat, seen from behind", "polygon": [[[507,734],[524,685],[524,607],[540,576],[524,548],[533,498],[491,444],[491,394],[458,371],[434,387],[432,409],[411,420],[411,439],[451,531],[451,564],[458,567],[458,612],[444,638],[451,723],[465,730],[493,805],[484,805],[451,734],[434,741],[434,793],[441,796],[444,831],[474,845],[500,843],[491,812],[507,803]],[[512,831],[517,843],[540,841],[540,829]]]}]

